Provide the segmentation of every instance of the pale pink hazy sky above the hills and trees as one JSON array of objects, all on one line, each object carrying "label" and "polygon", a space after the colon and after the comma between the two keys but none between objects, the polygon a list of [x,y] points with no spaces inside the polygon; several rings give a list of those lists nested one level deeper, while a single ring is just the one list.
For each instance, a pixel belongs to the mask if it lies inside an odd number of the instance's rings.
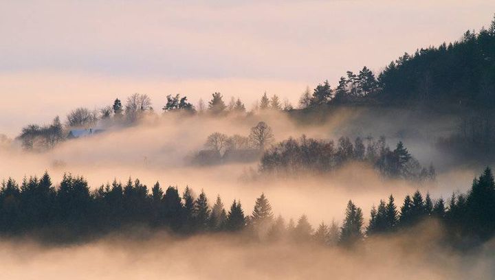
[{"label": "pale pink hazy sky above the hills and trees", "polygon": [[1,1],[0,133],[147,93],[263,91],[374,71],[488,25],[495,1]]}]

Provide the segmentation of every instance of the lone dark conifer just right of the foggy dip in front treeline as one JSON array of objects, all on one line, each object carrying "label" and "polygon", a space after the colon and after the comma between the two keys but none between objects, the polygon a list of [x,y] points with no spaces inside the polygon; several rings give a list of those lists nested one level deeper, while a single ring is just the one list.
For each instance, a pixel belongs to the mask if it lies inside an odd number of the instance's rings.
[{"label": "lone dark conifer just right of the foggy dip in front treeline", "polygon": [[362,225],[362,210],[349,200],[347,203],[346,218],[344,224],[342,224],[340,233],[340,242],[345,245],[350,245],[362,240]]}]

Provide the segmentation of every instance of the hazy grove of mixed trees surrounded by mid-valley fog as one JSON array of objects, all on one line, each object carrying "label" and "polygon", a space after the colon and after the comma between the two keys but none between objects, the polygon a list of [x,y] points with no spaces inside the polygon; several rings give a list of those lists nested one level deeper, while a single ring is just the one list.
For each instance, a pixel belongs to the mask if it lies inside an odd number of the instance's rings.
[{"label": "hazy grove of mixed trees surrounded by mid-valley fog", "polygon": [[337,144],[307,138],[289,138],[273,145],[261,158],[260,171],[267,174],[300,174],[301,172],[325,173],[336,170],[345,163],[360,161],[369,163],[388,178],[407,180],[434,180],[433,165],[422,167],[412,156],[404,143],[397,143],[394,150],[388,147],[385,137],[366,139],[357,137],[354,142],[349,137],[340,137]]}]

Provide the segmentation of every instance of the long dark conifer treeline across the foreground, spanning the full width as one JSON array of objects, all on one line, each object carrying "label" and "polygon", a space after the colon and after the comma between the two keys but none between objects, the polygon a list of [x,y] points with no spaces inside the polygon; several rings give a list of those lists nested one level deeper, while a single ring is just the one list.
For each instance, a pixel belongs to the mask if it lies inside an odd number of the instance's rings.
[{"label": "long dark conifer treeline across the foreground, spanning the full width", "polygon": [[177,187],[163,191],[156,183],[150,192],[140,180],[129,178],[124,185],[114,180],[90,191],[82,177],[64,175],[55,187],[45,173],[41,178],[25,178],[20,187],[12,178],[2,183],[0,233],[64,242],[146,226],[168,229],[177,235],[237,232],[272,242],[349,245],[373,235],[408,231],[419,222],[435,218],[447,229],[447,240],[463,245],[493,237],[494,202],[494,176],[487,167],[474,179],[467,194],[452,194],[448,202],[443,198],[432,200],[429,194],[423,198],[416,191],[412,197],[406,196],[399,208],[390,196],[387,202],[380,200],[378,207],[373,207],[369,224],[364,227],[362,209],[349,200],[340,226],[335,221],[330,226],[322,222],[315,231],[306,215],[288,223],[281,215],[274,218],[264,194],[256,199],[252,214],[247,215],[239,200],[225,210],[220,196],[211,205],[204,191],[196,197],[189,187],[181,196]]}]

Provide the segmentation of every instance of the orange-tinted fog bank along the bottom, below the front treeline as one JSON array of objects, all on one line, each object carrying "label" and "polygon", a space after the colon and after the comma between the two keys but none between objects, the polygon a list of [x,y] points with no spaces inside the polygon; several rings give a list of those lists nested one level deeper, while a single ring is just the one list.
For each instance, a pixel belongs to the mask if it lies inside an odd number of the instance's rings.
[{"label": "orange-tinted fog bank along the bottom, below the front treeline", "polygon": [[[428,227],[427,227],[428,226]],[[423,228],[424,227],[424,228]],[[427,230],[426,230],[427,229]],[[250,242],[235,235],[145,240],[111,235],[87,244],[0,242],[4,279],[492,279],[488,242],[462,254],[441,246],[441,228],[374,238],[352,250]]]}]

